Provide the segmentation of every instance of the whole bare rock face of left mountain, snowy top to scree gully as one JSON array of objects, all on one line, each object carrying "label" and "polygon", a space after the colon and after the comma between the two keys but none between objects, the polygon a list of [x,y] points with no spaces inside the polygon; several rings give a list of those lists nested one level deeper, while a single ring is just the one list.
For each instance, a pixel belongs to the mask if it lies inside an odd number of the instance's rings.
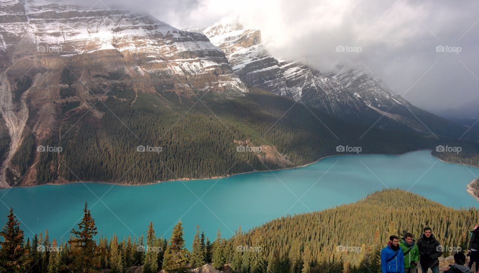
[{"label": "whole bare rock face of left mountain, snowy top to scree gully", "polygon": [[[0,0],[0,113],[11,138],[0,187],[19,178],[11,160],[30,130],[37,141],[49,137],[64,118],[64,103],[100,117],[92,105],[118,85],[193,98],[247,92],[224,52],[202,33],[122,10]],[[27,179],[34,172],[22,183],[34,184]]]}]

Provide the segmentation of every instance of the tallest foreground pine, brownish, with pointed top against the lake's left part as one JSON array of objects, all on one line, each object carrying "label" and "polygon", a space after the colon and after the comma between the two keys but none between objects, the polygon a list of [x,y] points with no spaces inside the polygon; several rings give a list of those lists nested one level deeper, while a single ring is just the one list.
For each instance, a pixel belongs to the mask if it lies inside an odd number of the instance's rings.
[{"label": "tallest foreground pine, brownish, with pointed top against the lake's left part", "polygon": [[68,267],[74,272],[95,272],[99,268],[100,261],[96,255],[98,251],[93,238],[98,232],[86,202],[78,231],[73,229],[71,233],[74,236],[69,241],[73,261]]}]

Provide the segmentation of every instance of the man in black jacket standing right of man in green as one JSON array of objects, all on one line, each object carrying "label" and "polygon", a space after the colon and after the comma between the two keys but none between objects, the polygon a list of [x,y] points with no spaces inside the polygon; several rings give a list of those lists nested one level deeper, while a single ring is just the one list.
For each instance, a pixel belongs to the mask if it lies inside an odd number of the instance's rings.
[{"label": "man in black jacket standing right of man in green", "polygon": [[441,245],[432,234],[431,228],[424,228],[423,235],[416,244],[419,248],[419,262],[422,272],[426,273],[431,269],[433,273],[439,273],[439,257],[443,253]]}]

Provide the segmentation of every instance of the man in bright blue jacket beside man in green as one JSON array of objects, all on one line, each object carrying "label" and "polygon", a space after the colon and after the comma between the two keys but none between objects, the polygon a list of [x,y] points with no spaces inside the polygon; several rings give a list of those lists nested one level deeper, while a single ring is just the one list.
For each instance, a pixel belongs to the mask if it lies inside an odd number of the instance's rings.
[{"label": "man in bright blue jacket beside man in green", "polygon": [[404,254],[396,235],[391,235],[388,245],[381,250],[381,273],[404,273]]}]

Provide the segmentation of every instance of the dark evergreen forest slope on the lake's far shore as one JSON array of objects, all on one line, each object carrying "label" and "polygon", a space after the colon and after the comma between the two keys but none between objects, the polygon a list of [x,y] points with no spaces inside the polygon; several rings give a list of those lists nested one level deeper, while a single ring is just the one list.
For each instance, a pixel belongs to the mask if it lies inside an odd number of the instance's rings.
[{"label": "dark evergreen forest slope on the lake's far shore", "polygon": [[[58,131],[48,141],[38,143],[35,136],[27,136],[12,160],[20,175],[35,168],[38,184],[143,184],[298,166],[344,154],[337,152],[338,145],[388,154],[434,147],[433,140],[419,134],[368,131],[261,90],[233,99],[207,94],[201,101],[140,93],[133,105],[129,99],[135,93],[124,86],[109,95],[115,98],[97,104],[99,111],[65,109]],[[36,153],[38,145],[62,151]],[[161,150],[138,152],[138,146]],[[240,146],[260,148],[239,152]],[[37,163],[31,166],[35,156]]]}]

